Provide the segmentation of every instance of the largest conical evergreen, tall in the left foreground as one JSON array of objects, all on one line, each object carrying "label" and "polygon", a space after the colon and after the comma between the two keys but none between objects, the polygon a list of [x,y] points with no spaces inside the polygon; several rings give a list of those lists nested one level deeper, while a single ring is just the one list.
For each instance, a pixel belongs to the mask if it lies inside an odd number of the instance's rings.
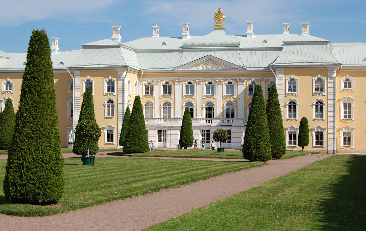
[{"label": "largest conical evergreen, tall in the left foreground", "polygon": [[4,179],[8,200],[48,204],[63,194],[64,160],[53,76],[47,34],[33,30]]}]

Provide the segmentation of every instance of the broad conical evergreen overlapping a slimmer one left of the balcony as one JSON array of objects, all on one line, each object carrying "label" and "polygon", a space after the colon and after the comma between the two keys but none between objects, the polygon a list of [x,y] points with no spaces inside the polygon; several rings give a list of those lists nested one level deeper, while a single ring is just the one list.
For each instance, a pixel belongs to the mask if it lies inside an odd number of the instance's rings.
[{"label": "broad conical evergreen overlapping a slimmer one left of the balcony", "polygon": [[147,140],[140,96],[135,96],[123,151],[124,153],[146,153],[149,151],[149,140]]}]

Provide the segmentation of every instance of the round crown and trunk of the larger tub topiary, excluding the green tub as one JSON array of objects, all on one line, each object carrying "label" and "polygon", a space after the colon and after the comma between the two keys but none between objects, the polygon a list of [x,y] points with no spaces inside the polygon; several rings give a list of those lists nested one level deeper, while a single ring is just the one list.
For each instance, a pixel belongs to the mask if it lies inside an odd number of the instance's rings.
[{"label": "round crown and trunk of the larger tub topiary, excluding the green tub", "polygon": [[85,142],[87,142],[87,153],[89,157],[90,142],[96,142],[102,135],[100,126],[93,120],[82,120],[78,122],[75,128],[75,135]]}]

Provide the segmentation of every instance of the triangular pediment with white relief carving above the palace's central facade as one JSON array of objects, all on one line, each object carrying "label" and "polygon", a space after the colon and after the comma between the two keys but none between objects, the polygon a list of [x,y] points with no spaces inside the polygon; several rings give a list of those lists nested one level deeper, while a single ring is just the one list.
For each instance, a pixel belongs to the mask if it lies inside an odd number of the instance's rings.
[{"label": "triangular pediment with white relief carving above the palace's central facade", "polygon": [[212,55],[206,55],[192,62],[186,63],[176,69],[179,70],[230,70],[243,69],[238,65],[219,59]]}]

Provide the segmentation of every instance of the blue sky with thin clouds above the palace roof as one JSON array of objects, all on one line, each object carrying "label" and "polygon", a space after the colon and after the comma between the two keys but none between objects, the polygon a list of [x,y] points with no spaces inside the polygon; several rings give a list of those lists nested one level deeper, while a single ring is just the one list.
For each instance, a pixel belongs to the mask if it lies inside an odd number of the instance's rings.
[{"label": "blue sky with thin clouds above the palace roof", "polygon": [[81,44],[111,38],[112,27],[122,26],[121,42],[151,37],[152,26],[161,37],[178,37],[182,22],[190,35],[213,30],[213,15],[226,14],[225,32],[246,34],[246,21],[254,21],[254,34],[301,33],[310,22],[310,34],[332,42],[366,42],[365,0],[11,0],[1,3],[0,50],[26,52],[32,29],[46,29],[58,37],[60,51],[81,49]]}]

